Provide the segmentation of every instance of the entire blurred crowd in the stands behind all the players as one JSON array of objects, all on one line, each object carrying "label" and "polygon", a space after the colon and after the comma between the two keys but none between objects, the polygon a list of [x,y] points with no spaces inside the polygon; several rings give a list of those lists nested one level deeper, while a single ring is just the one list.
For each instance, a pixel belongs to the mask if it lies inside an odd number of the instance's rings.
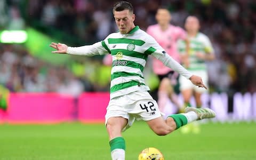
[{"label": "entire blurred crowd in the stands behind all the players", "polygon": [[[82,39],[84,44],[91,44],[117,30],[112,14],[115,2],[1,1],[0,29],[23,29],[26,26],[33,27],[33,22],[37,22],[49,29],[58,29]],[[201,21],[202,33],[210,37],[217,57],[217,60],[207,62],[211,91],[256,92],[256,1],[130,2],[136,15],[135,25],[143,30],[156,23],[155,13],[161,6],[170,10],[171,23],[182,28],[188,15],[196,15]],[[63,92],[61,90],[73,89],[76,90],[74,94],[78,94],[82,91],[108,89],[107,83],[97,87],[97,83],[90,84],[95,79],[89,81],[86,76],[77,77],[65,67],[46,65],[45,62],[31,57],[24,47],[3,44],[0,47],[0,83],[11,91]],[[101,62],[95,64],[100,65]]]}]

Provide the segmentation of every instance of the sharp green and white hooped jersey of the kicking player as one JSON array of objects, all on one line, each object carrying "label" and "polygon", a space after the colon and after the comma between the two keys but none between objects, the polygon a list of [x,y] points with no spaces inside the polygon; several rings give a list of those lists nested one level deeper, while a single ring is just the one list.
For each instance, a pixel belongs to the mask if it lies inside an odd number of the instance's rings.
[{"label": "sharp green and white hooped jersey of the kicking player", "polygon": [[87,56],[108,53],[112,55],[110,99],[135,91],[150,90],[143,77],[148,55],[153,55],[186,78],[191,77],[186,69],[166,54],[153,37],[138,26],[128,34],[110,34],[104,41],[93,45],[68,47],[67,53]]}]

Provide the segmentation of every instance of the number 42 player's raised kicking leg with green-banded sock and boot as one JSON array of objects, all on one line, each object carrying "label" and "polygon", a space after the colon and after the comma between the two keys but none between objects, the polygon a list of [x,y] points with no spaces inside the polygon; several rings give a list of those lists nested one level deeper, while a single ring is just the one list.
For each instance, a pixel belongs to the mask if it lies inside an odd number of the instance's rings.
[{"label": "number 42 player's raised kicking leg with green-banded sock and boot", "polygon": [[215,112],[209,108],[187,107],[185,113],[170,115],[166,121],[162,117],[158,117],[147,121],[147,123],[157,135],[166,135],[193,121],[214,117]]}]

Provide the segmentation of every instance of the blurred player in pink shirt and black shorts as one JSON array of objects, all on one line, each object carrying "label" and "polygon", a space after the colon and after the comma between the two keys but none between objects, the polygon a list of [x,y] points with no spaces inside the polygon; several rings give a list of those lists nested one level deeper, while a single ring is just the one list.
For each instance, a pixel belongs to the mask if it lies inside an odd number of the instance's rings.
[{"label": "blurred player in pink shirt and black shorts", "polygon": [[[171,14],[167,9],[159,8],[156,13],[157,24],[149,26],[147,33],[156,39],[163,49],[176,61],[180,62],[180,55],[177,49],[177,42],[183,39],[186,42],[187,51],[189,42],[187,40],[186,31],[180,27],[170,24]],[[160,111],[164,111],[167,105],[167,100],[170,100],[181,109],[172,87],[171,80],[176,80],[178,74],[166,67],[162,61],[153,59],[153,71],[158,76],[160,84],[158,87],[158,107]],[[176,75],[176,76],[175,76]],[[174,84],[173,84],[174,85]]]}]

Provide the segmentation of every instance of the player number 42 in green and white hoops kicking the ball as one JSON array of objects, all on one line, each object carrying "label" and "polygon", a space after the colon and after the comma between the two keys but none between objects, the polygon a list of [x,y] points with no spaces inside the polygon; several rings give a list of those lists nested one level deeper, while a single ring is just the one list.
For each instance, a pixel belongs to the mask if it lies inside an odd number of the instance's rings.
[{"label": "player number 42 in green and white hoops kicking the ball", "polygon": [[122,131],[130,127],[135,118],[146,121],[157,135],[166,135],[197,119],[212,118],[215,113],[211,109],[189,107],[184,114],[170,115],[166,120],[163,119],[156,101],[148,93],[149,87],[145,85],[142,74],[148,55],[161,60],[199,87],[205,87],[202,79],[190,74],[166,54],[153,37],[134,25],[135,15],[130,3],[117,2],[113,14],[119,32],[110,34],[103,41],[81,47],[69,47],[61,43],[51,43],[50,46],[57,50],[53,53],[112,55],[110,101],[105,118],[111,157],[123,160],[125,141]]}]

